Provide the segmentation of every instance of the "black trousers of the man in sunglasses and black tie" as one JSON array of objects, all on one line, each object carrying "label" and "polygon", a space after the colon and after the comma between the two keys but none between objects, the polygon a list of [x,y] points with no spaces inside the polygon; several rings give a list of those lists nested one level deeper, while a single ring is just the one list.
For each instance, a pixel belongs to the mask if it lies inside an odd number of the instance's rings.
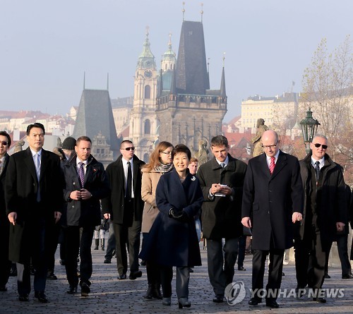
[{"label": "black trousers of the man in sunglasses and black tie", "polygon": [[[116,241],[116,267],[119,274],[126,274],[128,262],[130,272],[138,271],[138,252],[140,250],[141,221],[133,220],[131,227],[126,224],[113,223],[114,236]],[[126,254],[128,245],[128,259]]]}]

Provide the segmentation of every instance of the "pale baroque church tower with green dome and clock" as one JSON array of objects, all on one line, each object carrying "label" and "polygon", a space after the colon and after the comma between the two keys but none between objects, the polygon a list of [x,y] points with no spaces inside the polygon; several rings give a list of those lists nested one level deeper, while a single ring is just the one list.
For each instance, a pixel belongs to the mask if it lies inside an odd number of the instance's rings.
[{"label": "pale baroque church tower with green dome and clock", "polygon": [[148,35],[147,28],[143,52],[138,57],[134,77],[133,109],[129,132],[129,138],[136,147],[136,155],[145,162],[148,162],[154,148],[153,143],[157,139],[155,109],[158,72],[155,56],[150,50]]}]

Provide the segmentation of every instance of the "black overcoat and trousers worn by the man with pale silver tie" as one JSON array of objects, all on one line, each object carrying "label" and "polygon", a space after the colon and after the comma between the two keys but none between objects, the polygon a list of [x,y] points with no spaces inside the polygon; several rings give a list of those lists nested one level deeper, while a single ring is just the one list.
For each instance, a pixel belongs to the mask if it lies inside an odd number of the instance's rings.
[{"label": "black overcoat and trousers worn by the man with pale silver tie", "polygon": [[35,267],[34,289],[45,289],[54,212],[62,210],[62,183],[60,159],[53,152],[42,149],[39,183],[30,148],[11,155],[5,198],[7,214],[17,213],[16,224],[10,225],[9,258],[24,265],[23,282],[18,281],[19,294],[30,293],[30,258]]}]

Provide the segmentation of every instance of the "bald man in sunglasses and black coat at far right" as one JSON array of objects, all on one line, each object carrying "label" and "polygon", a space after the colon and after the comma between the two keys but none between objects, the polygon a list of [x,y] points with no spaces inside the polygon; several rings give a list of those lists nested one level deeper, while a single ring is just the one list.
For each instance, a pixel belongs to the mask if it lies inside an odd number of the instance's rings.
[{"label": "bald man in sunglasses and black coat at far right", "polygon": [[337,232],[347,224],[347,200],[342,167],[328,156],[328,139],[316,135],[311,151],[300,161],[304,187],[304,219],[294,238],[297,296],[306,285],[315,292],[314,301],[325,303],[320,295],[325,260]]}]

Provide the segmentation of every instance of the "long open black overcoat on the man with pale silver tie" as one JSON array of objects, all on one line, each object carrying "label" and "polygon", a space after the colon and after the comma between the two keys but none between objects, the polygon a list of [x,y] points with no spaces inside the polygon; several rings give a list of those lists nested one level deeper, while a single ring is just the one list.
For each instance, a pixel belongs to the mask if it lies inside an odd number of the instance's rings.
[{"label": "long open black overcoat on the man with pale silver tie", "polygon": [[[11,155],[6,171],[6,213],[17,212],[16,224],[10,225],[9,259],[24,264],[29,262],[30,241],[38,218],[44,218],[46,241],[50,246],[54,229],[54,212],[63,206],[63,178],[59,156],[42,149],[40,181],[38,183],[32,153],[26,150]],[[37,203],[40,187],[41,206]]]}]

